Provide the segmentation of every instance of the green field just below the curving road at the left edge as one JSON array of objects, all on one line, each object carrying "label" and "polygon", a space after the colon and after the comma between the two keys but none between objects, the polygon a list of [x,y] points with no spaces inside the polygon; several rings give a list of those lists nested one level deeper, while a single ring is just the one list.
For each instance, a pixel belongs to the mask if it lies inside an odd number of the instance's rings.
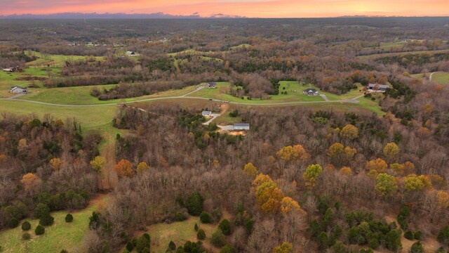
[{"label": "green field just below the curving road at the left edge", "polygon": [[15,115],[29,115],[35,113],[38,117],[50,114],[56,119],[65,120],[76,118],[84,130],[112,129],[112,119],[118,110],[117,105],[103,105],[95,107],[68,107],[41,105],[19,100],[1,100],[0,112],[11,112]]}]

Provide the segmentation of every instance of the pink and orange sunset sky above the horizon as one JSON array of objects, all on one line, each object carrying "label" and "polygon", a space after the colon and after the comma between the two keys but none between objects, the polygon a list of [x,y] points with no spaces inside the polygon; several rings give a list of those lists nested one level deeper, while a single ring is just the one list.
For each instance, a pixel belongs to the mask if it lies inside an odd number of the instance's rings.
[{"label": "pink and orange sunset sky above the horizon", "polygon": [[448,16],[449,0],[0,0],[0,15],[168,13],[208,17],[311,18],[341,15]]}]

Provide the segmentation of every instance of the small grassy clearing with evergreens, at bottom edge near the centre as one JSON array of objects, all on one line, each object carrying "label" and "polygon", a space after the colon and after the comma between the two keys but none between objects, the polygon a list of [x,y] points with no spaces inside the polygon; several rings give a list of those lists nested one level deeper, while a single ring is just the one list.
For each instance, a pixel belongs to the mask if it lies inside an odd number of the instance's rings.
[{"label": "small grassy clearing with evergreens, at bottom edge near the centre", "polygon": [[206,239],[203,240],[205,247],[210,247],[208,244],[210,235],[217,228],[215,224],[203,224],[199,221],[199,217],[189,217],[185,221],[176,221],[171,224],[158,223],[148,227],[148,234],[151,237],[152,252],[164,253],[168,248],[170,241],[175,242],[179,247],[184,245],[187,240],[196,242],[196,231],[194,230],[195,223],[199,228],[206,232]]}]

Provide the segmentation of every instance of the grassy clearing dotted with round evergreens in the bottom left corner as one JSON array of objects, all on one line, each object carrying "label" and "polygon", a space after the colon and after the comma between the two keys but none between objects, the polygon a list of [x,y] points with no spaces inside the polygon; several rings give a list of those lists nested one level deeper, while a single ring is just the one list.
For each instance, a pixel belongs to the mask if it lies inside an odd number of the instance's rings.
[{"label": "grassy clearing dotted with round evergreens in the bottom left corner", "polygon": [[39,224],[38,219],[28,219],[32,225],[29,231],[31,239],[22,240],[22,228],[8,229],[0,232],[0,245],[4,248],[3,252],[60,252],[66,249],[73,252],[72,249],[81,242],[88,231],[89,216],[97,210],[107,197],[101,196],[101,199],[86,209],[78,212],[72,212],[73,222],[66,223],[65,216],[67,211],[53,212],[51,215],[55,218],[52,226],[46,227],[43,235],[35,235],[34,229]]}]

